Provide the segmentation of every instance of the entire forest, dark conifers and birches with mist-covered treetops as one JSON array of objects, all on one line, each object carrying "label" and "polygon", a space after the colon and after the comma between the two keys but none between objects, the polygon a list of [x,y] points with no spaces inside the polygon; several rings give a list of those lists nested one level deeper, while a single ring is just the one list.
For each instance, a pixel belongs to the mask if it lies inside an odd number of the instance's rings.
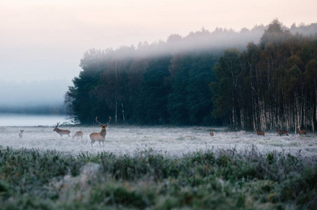
[{"label": "entire forest, dark conifers and birches with mist-covered treetops", "polygon": [[273,20],[239,33],[203,28],[137,48],[92,48],[80,67],[64,99],[78,123],[317,126],[317,24]]}]

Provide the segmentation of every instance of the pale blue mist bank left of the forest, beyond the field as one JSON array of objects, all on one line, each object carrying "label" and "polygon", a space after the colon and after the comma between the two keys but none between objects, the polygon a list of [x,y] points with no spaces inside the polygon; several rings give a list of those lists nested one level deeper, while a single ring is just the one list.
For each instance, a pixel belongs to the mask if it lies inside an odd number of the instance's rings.
[{"label": "pale blue mist bank left of the forest, beyond the field", "polygon": [[0,113],[65,114],[68,85],[67,80],[14,83],[0,78]]}]

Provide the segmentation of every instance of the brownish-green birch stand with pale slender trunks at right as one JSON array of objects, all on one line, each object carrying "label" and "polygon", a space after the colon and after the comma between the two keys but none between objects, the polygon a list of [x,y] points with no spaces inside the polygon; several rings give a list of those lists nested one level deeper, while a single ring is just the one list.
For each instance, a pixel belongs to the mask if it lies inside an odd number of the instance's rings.
[{"label": "brownish-green birch stand with pale slender trunks at right", "polygon": [[213,114],[232,128],[315,130],[316,35],[290,34],[274,20],[258,45],[225,50],[214,71]]}]

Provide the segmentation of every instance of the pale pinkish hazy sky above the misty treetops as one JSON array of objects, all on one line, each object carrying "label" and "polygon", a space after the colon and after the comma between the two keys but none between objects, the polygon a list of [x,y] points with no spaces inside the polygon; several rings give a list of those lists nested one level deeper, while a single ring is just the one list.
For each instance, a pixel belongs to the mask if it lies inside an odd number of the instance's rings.
[{"label": "pale pinkish hazy sky above the misty treetops", "polygon": [[316,0],[0,0],[0,82],[71,85],[90,48],[166,41],[202,27],[239,31],[274,18],[310,24],[316,11]]}]

